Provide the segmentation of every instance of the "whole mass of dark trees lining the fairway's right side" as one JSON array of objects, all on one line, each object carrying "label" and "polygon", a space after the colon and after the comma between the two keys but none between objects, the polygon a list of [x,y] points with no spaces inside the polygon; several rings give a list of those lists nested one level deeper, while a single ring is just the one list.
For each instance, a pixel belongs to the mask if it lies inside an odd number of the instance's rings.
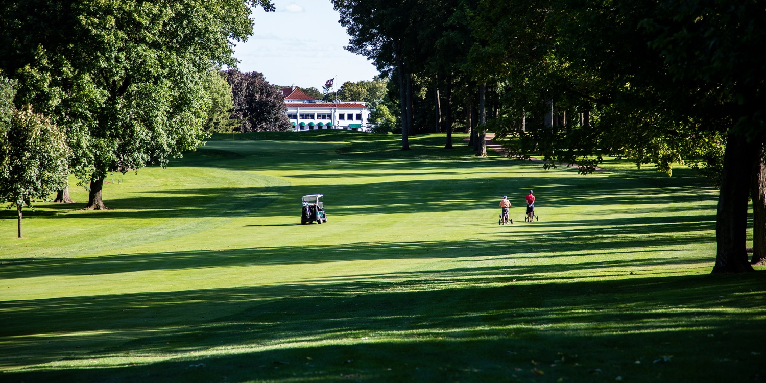
[{"label": "whole mass of dark trees lining the fairway's right side", "polygon": [[[391,79],[401,146],[464,126],[517,159],[693,165],[718,185],[714,273],[766,260],[766,8],[755,0],[332,0]],[[394,93],[394,92],[391,92]],[[456,124],[460,119],[462,123]],[[748,260],[748,198],[754,255]]]}]

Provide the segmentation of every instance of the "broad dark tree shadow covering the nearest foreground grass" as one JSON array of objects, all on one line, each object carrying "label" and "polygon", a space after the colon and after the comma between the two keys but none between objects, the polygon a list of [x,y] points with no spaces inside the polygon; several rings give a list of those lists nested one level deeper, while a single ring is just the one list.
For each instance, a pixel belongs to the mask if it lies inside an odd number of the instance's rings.
[{"label": "broad dark tree shadow covering the nearest foreground grass", "polygon": [[[431,274],[2,303],[3,336],[13,337],[2,365],[80,362],[2,376],[744,381],[764,372],[766,280],[755,274],[522,284],[495,273],[485,286],[468,286],[462,272]],[[201,318],[218,310],[234,314]]]}]

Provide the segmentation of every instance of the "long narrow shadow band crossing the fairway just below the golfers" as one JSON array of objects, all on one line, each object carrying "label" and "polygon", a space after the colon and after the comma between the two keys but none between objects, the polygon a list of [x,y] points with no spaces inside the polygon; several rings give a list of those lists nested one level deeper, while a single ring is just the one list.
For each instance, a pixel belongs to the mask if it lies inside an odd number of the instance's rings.
[{"label": "long narrow shadow band crossing the fairway just below the golfers", "polygon": [[[347,260],[382,260],[455,257],[529,257],[530,253],[564,253],[545,257],[571,257],[617,252],[625,247],[639,247],[649,252],[653,247],[670,249],[686,244],[712,241],[715,228],[712,217],[680,216],[674,222],[656,217],[613,218],[574,223],[535,223],[535,233],[509,233],[502,241],[416,241],[362,242],[333,245],[250,247],[237,250],[185,250],[165,253],[113,254],[100,257],[21,258],[0,267],[0,278],[28,278],[48,275],[90,275],[128,273],[141,270],[182,270],[218,266],[255,266],[267,264],[326,263]],[[680,222],[679,222],[680,220]],[[622,224],[618,224],[622,223]],[[300,223],[285,224],[300,226]],[[568,225],[577,228],[568,228]],[[267,225],[268,226],[268,225]],[[516,254],[516,255],[514,255]],[[665,264],[666,258],[624,261],[620,266]],[[684,258],[676,262],[696,263]],[[615,260],[614,262],[622,262]],[[550,272],[579,270],[584,264],[550,266]],[[597,267],[603,267],[599,264]],[[615,264],[617,266],[617,264]],[[520,270],[519,273],[526,273]]]}]

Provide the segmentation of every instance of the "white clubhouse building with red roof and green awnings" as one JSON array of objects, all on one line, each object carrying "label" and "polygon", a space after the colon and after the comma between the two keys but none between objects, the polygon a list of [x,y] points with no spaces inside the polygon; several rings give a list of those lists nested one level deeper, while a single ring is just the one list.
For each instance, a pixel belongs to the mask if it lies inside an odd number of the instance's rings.
[{"label": "white clubhouse building with red roof and green awnings", "polygon": [[325,103],[297,87],[282,88],[287,118],[296,132],[313,129],[346,129],[369,132],[370,111],[364,101]]}]

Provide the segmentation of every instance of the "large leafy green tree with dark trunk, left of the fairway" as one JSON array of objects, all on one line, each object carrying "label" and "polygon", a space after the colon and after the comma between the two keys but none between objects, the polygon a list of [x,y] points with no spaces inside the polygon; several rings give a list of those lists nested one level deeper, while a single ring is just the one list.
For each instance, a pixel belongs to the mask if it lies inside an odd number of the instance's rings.
[{"label": "large leafy green tree with dark trunk, left of the fairway", "polygon": [[245,2],[0,3],[0,68],[29,103],[67,131],[70,168],[90,184],[86,209],[105,209],[103,178],[165,166],[205,139],[208,71],[234,65],[252,34]]}]

